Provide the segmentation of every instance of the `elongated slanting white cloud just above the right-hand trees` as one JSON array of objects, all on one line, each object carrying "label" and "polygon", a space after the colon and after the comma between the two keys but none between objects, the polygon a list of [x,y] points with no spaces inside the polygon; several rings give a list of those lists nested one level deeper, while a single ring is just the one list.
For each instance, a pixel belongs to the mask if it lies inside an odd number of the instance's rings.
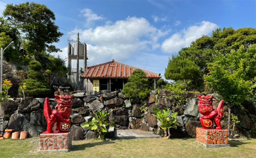
[{"label": "elongated slanting white cloud just above the right-hand trees", "polygon": [[216,28],[216,24],[209,21],[202,21],[197,25],[188,27],[188,29],[174,33],[171,37],[165,39],[161,45],[161,49],[165,53],[178,52],[182,47],[188,47],[192,41],[195,41],[202,35],[208,35]]}]

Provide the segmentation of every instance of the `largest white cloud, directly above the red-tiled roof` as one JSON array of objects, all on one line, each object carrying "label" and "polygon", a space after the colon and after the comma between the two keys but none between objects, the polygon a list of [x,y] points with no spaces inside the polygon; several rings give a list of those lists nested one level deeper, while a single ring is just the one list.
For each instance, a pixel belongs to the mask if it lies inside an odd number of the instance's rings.
[{"label": "largest white cloud, directly above the red-tiled roof", "polygon": [[[145,18],[128,17],[96,28],[75,29],[73,32],[79,32],[80,41],[86,42],[88,63],[91,66],[112,59],[127,61],[141,51],[154,50],[161,46],[159,38],[167,35],[170,29],[157,29]],[[62,58],[67,54],[66,49],[63,49]]]}]

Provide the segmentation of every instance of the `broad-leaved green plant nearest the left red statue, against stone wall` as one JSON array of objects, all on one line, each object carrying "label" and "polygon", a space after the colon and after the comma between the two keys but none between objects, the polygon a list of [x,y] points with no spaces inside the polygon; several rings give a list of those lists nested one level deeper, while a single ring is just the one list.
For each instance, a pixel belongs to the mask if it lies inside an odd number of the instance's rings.
[{"label": "broad-leaved green plant nearest the left red statue, against stone wall", "polygon": [[[112,111],[111,111],[112,112]],[[82,128],[89,127],[90,130],[94,131],[98,135],[98,139],[104,139],[104,135],[108,133],[108,116],[111,113],[108,111],[97,111],[93,112],[95,117],[92,118],[91,122],[84,122]]]}]

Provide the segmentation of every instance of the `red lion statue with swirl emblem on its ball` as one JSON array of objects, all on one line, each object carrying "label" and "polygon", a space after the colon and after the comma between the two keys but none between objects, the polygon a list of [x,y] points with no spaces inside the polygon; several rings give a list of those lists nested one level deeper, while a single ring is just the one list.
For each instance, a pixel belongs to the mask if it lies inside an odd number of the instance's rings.
[{"label": "red lion statue with swirl emblem on its ball", "polygon": [[199,102],[199,112],[204,115],[201,116],[199,119],[201,121],[201,125],[204,128],[211,128],[213,125],[213,121],[216,124],[216,129],[221,129],[220,120],[223,117],[223,103],[224,100],[221,100],[217,110],[213,109],[212,106],[212,98],[213,96],[198,96]]}]

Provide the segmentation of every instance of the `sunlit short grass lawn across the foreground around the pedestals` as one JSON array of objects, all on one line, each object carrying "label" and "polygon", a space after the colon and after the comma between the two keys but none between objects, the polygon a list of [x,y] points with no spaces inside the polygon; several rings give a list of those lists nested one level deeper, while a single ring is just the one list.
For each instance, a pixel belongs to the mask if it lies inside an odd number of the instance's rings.
[{"label": "sunlit short grass lawn across the foreground around the pedestals", "polygon": [[230,140],[231,147],[205,148],[195,139],[134,139],[134,140],[81,140],[73,141],[69,152],[38,152],[39,138],[1,140],[0,157],[57,157],[57,158],[121,158],[121,157],[256,157],[256,139]]}]

